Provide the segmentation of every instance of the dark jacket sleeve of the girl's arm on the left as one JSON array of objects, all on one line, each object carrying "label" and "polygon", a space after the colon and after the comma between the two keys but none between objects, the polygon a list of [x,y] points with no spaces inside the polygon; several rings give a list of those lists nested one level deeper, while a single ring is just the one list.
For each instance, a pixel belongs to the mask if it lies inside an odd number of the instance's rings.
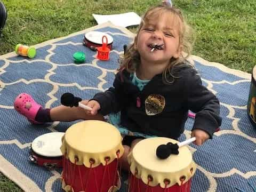
[{"label": "dark jacket sleeve of the girl's arm on the left", "polygon": [[116,75],[113,87],[110,87],[105,92],[95,94],[93,99],[91,99],[100,103],[100,110],[98,112],[102,115],[117,113],[122,108],[123,85],[119,75]]}]

